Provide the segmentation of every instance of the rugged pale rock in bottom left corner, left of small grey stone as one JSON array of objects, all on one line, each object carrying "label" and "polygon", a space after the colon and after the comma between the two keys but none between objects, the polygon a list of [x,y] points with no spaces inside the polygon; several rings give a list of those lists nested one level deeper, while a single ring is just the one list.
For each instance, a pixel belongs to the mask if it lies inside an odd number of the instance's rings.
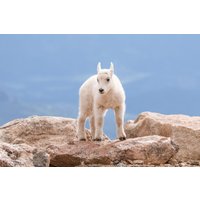
[{"label": "rugged pale rock in bottom left corner, left of small grey stone", "polygon": [[0,143],[0,167],[32,167],[33,148],[22,145]]}]

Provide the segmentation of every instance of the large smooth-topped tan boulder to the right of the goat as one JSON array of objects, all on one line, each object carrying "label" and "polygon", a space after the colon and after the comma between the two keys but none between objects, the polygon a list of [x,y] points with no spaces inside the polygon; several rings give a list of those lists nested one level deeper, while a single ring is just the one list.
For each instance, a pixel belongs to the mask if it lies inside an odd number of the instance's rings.
[{"label": "large smooth-topped tan boulder to the right of the goat", "polygon": [[179,146],[175,159],[179,162],[200,160],[200,117],[162,115],[145,112],[125,124],[128,138],[160,135],[171,137]]}]

